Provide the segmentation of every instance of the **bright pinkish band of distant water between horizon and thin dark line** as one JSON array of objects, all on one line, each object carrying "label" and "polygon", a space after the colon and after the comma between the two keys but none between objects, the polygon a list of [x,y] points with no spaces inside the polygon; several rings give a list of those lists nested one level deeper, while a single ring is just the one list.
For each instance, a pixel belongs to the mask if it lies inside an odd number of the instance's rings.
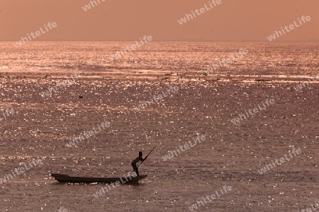
[{"label": "bright pinkish band of distant water between horizon and thin dark line", "polygon": [[[319,44],[250,42],[147,42],[133,52],[135,42],[27,42],[13,47],[1,42],[0,66],[9,70],[173,71],[203,73],[240,49],[249,52],[219,73],[250,75],[317,74]],[[112,61],[116,52],[124,55]]]}]

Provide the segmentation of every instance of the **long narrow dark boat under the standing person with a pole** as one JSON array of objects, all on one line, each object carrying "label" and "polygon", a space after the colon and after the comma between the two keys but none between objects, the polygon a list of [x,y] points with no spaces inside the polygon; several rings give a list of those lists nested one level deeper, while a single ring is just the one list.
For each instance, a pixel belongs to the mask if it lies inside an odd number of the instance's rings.
[{"label": "long narrow dark boat under the standing person with a pole", "polygon": [[120,182],[123,183],[138,183],[140,179],[144,179],[147,175],[140,175],[137,177],[126,176],[126,177],[72,177],[69,175],[63,174],[51,174],[52,177],[58,182],[83,182],[83,183],[91,183],[91,182]]}]

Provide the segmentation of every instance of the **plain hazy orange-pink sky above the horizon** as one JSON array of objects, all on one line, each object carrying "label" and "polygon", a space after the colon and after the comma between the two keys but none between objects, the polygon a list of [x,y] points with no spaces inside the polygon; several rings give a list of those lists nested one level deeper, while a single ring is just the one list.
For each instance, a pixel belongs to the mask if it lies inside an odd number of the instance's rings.
[{"label": "plain hazy orange-pink sky above the horizon", "polygon": [[[98,0],[96,0],[97,2]],[[33,40],[265,41],[302,16],[311,20],[276,39],[319,42],[319,0],[221,0],[221,4],[180,25],[186,13],[211,0],[0,0],[0,40],[20,40],[48,22],[57,28]],[[298,22],[297,22],[298,23]],[[43,28],[44,29],[44,28]]]}]

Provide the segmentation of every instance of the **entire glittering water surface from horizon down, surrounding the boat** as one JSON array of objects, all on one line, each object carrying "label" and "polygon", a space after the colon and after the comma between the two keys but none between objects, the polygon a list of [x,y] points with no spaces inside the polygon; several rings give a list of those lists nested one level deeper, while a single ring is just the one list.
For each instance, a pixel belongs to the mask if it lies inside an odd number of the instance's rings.
[{"label": "entire glittering water surface from horizon down, surrounding the boat", "polygon": [[[1,42],[0,211],[301,211],[319,201],[319,44],[149,42],[111,61],[133,44]],[[205,73],[240,49],[248,53]],[[167,94],[172,86],[179,90]],[[231,122],[270,99],[274,105]],[[102,122],[111,125],[67,145]],[[177,151],[197,136],[206,139]],[[106,184],[50,177],[125,177],[138,151],[145,156],[154,146],[140,166],[147,179],[97,198]],[[232,189],[222,194],[224,186]]]}]

